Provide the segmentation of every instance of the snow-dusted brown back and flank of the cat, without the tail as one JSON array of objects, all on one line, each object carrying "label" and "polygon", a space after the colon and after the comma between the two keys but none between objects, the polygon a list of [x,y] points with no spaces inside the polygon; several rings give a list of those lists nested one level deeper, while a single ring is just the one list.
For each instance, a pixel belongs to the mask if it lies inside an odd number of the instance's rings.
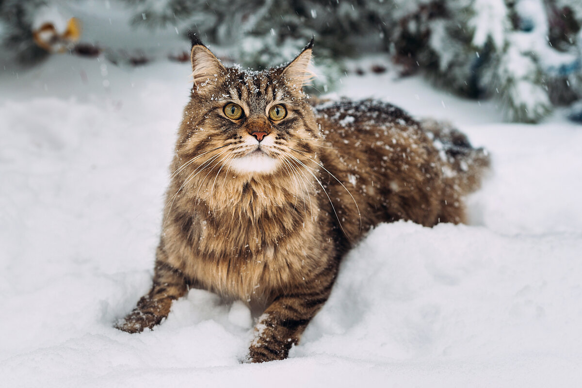
[{"label": "snow-dusted brown back and flank of the cat, without the tail", "polygon": [[313,111],[324,144],[322,165],[343,183],[322,173],[347,236],[361,236],[379,222],[398,219],[434,225],[437,199],[425,188],[442,191],[441,171],[435,164],[437,151],[416,120],[372,99],[324,101],[314,104]]}]

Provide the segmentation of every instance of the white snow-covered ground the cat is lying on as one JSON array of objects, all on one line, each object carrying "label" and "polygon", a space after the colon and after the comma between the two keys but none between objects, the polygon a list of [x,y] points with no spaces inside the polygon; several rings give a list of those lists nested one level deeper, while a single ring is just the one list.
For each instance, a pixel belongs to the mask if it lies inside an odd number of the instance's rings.
[{"label": "white snow-covered ground the cat is lying on", "polygon": [[0,70],[1,386],[580,386],[582,127],[502,123],[394,72],[337,93],[487,147],[471,225],[378,226],[285,361],[240,364],[249,311],[201,290],[151,332],[113,329],[150,285],[188,75],[71,56]]}]

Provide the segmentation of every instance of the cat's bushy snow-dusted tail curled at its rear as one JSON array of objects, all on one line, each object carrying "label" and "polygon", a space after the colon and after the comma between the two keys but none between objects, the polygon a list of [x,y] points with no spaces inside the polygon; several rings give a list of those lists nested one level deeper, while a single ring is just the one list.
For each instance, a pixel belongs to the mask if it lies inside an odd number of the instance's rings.
[{"label": "cat's bushy snow-dusted tail curled at its rear", "polygon": [[454,184],[457,194],[466,195],[477,190],[491,165],[487,150],[473,148],[467,136],[449,122],[424,119],[420,126],[432,138],[441,159],[446,162],[444,177]]}]

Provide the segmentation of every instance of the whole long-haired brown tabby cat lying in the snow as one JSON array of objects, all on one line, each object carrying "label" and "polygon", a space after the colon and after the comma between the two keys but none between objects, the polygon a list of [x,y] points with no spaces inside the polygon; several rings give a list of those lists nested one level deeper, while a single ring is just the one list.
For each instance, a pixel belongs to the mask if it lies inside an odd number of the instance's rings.
[{"label": "whole long-haired brown tabby cat lying in the snow", "polygon": [[380,222],[463,222],[488,156],[385,102],[313,102],[302,91],[313,40],[288,65],[251,72],[191,39],[153,285],[116,327],[152,328],[201,287],[263,309],[249,359],[283,359],[354,243]]}]

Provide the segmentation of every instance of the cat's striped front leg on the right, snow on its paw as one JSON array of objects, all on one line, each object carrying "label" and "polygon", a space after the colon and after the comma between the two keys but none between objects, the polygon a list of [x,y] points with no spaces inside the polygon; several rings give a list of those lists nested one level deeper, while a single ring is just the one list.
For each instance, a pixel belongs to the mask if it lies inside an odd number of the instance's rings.
[{"label": "cat's striped front leg on the right, snow on its paw", "polygon": [[277,297],[255,326],[256,336],[250,346],[249,360],[265,362],[287,358],[291,346],[299,343],[311,318],[328,300],[333,278],[321,281],[320,287],[315,289]]}]

